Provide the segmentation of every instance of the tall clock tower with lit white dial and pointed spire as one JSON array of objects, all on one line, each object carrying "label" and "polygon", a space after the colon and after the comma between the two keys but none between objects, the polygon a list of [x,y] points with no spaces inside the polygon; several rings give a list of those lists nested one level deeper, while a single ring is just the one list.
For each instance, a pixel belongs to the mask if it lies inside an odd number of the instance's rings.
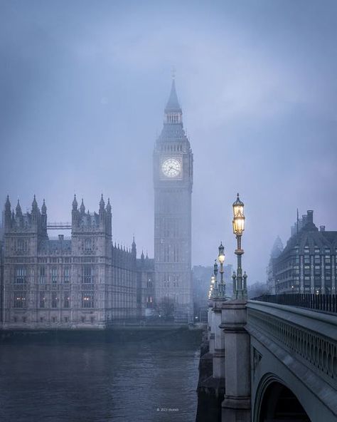
[{"label": "tall clock tower with lit white dial and pointed spire", "polygon": [[155,299],[164,314],[187,322],[193,319],[193,154],[183,130],[182,116],[173,78],[164,110],[164,127],[154,148]]}]

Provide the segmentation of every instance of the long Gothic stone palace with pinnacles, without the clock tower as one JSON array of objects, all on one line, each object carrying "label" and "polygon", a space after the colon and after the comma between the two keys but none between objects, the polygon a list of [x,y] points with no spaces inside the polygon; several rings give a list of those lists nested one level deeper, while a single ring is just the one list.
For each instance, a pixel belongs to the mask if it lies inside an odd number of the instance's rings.
[{"label": "long Gothic stone palace with pinnacles, without the clock tower", "polygon": [[[4,211],[1,319],[4,329],[105,328],[116,319],[145,316],[152,302],[149,259],[112,245],[112,210],[103,197],[98,212],[73,200],[71,239],[48,237],[47,207],[34,197]],[[1,246],[1,245],[0,245]],[[153,267],[153,266],[152,266]]]}]

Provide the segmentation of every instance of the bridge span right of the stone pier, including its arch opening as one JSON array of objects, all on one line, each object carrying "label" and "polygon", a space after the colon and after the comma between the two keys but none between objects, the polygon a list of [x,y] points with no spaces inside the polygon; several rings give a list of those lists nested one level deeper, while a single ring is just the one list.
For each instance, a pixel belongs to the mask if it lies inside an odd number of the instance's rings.
[{"label": "bridge span right of the stone pier, including its arch opening", "polygon": [[[251,347],[252,420],[281,421],[289,417],[291,408],[294,420],[336,422],[337,316],[249,301],[246,329]],[[271,401],[264,404],[272,388],[274,409]],[[277,394],[280,402],[287,403],[285,398],[289,398],[283,416]],[[291,405],[294,399],[298,406]]]}]

